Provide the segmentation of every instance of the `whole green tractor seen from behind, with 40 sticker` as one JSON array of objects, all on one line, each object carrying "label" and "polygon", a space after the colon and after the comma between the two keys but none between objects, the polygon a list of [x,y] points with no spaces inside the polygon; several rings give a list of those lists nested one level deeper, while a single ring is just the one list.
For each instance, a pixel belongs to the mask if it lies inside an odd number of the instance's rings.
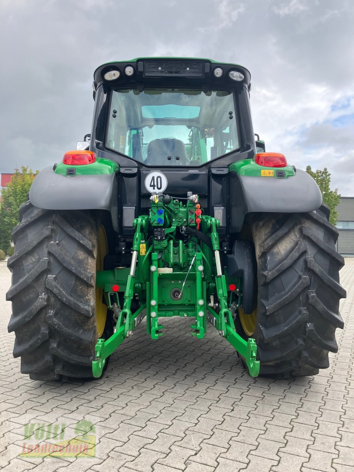
[{"label": "whole green tractor seen from behind, with 40 sticker", "polygon": [[171,316],[196,344],[216,329],[253,377],[329,366],[337,229],[312,177],[255,140],[250,79],[209,59],[96,69],[91,135],[38,174],[12,233],[22,373],[100,377],[143,318],[158,339]]}]

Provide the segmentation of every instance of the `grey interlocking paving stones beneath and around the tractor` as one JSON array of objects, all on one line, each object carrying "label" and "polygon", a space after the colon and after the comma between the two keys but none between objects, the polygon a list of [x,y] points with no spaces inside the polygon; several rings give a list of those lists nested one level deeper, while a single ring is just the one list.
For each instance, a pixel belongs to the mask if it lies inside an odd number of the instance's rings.
[{"label": "grey interlocking paving stones beneath and around the tractor", "polygon": [[[338,354],[318,376],[252,379],[216,332],[196,342],[187,320],[151,341],[142,324],[103,379],[38,382],[20,373],[7,333],[10,275],[0,262],[0,467],[3,471],[353,471],[354,258],[346,259]],[[351,315],[351,316],[350,316]],[[195,348],[195,346],[197,346]],[[17,458],[24,424],[90,420],[96,457]],[[38,426],[36,426],[37,428]],[[28,429],[28,426],[27,426]],[[70,434],[69,434],[70,436]]]}]

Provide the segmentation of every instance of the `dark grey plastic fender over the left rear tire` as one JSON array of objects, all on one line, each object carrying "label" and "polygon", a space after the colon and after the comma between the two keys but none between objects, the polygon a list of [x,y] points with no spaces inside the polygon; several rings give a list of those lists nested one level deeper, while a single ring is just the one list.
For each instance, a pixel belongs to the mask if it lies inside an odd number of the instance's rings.
[{"label": "dark grey plastic fender over the left rear tire", "polygon": [[29,200],[44,210],[108,210],[118,231],[115,173],[68,177],[46,167],[34,179]]}]

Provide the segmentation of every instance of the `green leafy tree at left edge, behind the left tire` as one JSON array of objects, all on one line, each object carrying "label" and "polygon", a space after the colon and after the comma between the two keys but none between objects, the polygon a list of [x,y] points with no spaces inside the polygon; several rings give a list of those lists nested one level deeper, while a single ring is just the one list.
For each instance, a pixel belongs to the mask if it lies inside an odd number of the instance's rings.
[{"label": "green leafy tree at left edge, behind the left tire", "polygon": [[28,167],[15,169],[8,186],[1,192],[0,208],[0,249],[6,251],[11,241],[11,231],[19,223],[18,209],[27,200],[27,194],[38,170]]}]

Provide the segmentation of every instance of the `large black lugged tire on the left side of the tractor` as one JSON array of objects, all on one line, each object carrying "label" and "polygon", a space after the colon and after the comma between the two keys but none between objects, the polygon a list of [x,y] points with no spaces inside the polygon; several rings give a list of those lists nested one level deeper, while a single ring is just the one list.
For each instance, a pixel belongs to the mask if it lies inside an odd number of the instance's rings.
[{"label": "large black lugged tire on the left side of the tractor", "polygon": [[[13,355],[30,379],[92,378],[100,221],[88,211],[47,211],[30,202],[19,213],[8,259]],[[102,337],[112,332],[109,312]]]}]

